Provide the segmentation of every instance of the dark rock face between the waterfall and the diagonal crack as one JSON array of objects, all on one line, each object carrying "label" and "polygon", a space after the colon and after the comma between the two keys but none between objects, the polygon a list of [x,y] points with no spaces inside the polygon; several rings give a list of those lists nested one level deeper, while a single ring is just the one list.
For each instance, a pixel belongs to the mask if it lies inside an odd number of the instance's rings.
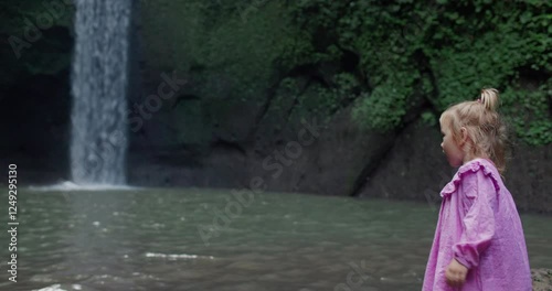
[{"label": "dark rock face between the waterfall and the diagonal crack", "polygon": [[[251,128],[243,122],[244,128]],[[157,148],[157,153],[131,148],[129,181],[248,187],[262,179],[267,191],[352,196],[364,176],[375,171],[394,137],[352,127],[349,110],[337,114],[330,122],[310,116],[282,131],[269,128],[263,119],[252,140],[232,141],[213,134],[206,146],[167,146]],[[164,171],[150,173],[148,164]]]}]

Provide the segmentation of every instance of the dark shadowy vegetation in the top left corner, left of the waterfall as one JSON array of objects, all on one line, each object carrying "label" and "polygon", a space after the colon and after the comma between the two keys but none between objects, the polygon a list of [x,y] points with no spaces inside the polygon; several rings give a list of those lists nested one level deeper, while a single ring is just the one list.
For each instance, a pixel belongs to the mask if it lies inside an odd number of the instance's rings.
[{"label": "dark shadowy vegetation in the top left corner, left of the waterfall", "polygon": [[66,2],[0,0],[0,85],[70,67],[74,7]]}]

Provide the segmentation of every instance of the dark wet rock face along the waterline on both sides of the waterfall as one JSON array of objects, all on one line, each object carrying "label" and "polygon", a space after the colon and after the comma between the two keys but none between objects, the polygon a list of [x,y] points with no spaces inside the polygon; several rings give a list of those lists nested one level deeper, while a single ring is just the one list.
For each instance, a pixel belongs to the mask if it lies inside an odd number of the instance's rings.
[{"label": "dark wet rock face along the waterline on both sides of the waterfall", "polygon": [[[3,123],[17,126],[0,129],[11,141],[0,148],[6,153],[1,161],[25,169],[29,184],[68,179],[68,76],[60,79],[63,82],[32,80],[32,87],[13,89],[13,96],[20,98],[2,100]],[[440,188],[455,172],[440,151],[438,129],[413,121],[400,132],[376,134],[355,128],[349,110],[336,114],[327,123],[320,117],[305,118],[316,127],[312,132],[300,120],[280,131],[269,130],[266,122],[270,116],[252,125],[236,111],[232,123],[245,129],[256,126],[253,138],[232,140],[212,131],[206,132],[212,139],[202,144],[179,143],[171,138],[174,132],[166,129],[170,122],[160,120],[171,120],[174,112],[161,110],[140,132],[130,133],[128,182],[144,186],[247,187],[259,176],[266,191],[438,204]],[[551,213],[552,146],[519,147],[514,153],[505,183],[516,204],[522,211]]]}]

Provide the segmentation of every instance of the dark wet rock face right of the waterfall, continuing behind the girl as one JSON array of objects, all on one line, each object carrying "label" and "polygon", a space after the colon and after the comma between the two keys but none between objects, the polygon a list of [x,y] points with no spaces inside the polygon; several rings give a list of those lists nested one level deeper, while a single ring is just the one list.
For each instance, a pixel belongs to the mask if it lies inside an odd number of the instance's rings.
[{"label": "dark wet rock face right of the waterfall, continuing behind the girl", "polygon": [[[440,202],[439,192],[456,169],[442,153],[437,128],[413,121],[400,132],[376,134],[359,130],[348,116],[343,110],[323,125],[307,118],[316,137],[299,137],[306,129],[300,121],[288,123],[283,132],[268,130],[266,116],[248,142],[214,134],[204,146],[159,144],[159,150],[145,153],[158,155],[149,162],[144,154],[135,155],[130,177],[153,185],[247,187],[259,176],[267,191]],[[517,149],[505,183],[519,209],[552,212],[546,196],[552,188],[546,179],[552,173],[546,162],[551,155],[551,146]],[[159,170],[149,171],[151,163]]]}]

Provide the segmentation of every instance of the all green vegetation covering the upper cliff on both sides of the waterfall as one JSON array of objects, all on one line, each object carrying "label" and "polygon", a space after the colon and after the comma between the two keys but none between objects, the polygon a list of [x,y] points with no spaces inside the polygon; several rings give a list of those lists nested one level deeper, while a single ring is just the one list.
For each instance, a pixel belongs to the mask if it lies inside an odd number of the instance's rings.
[{"label": "all green vegetation covering the upper cliff on both sides of the waterfall", "polygon": [[[44,12],[39,0],[0,8],[4,40],[22,37],[24,20]],[[290,122],[329,120],[352,106],[352,120],[382,132],[403,127],[405,116],[435,125],[449,105],[495,87],[523,141],[552,142],[546,0],[142,0],[141,10],[152,78],[183,73],[193,84],[187,94],[199,97],[178,105],[197,109],[178,109],[198,132],[179,134],[184,140],[209,140],[205,132],[242,105],[267,106]],[[70,12],[54,24],[65,34]],[[66,35],[49,31],[21,60],[2,46],[2,84],[68,67]]]}]

